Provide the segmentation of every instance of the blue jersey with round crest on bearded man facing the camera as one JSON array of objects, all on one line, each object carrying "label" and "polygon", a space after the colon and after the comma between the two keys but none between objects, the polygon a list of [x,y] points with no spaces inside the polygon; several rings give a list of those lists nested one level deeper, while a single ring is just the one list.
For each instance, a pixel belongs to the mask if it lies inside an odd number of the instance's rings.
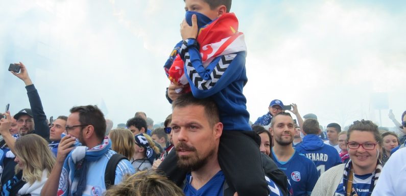
[{"label": "blue jersey with round crest on bearded man facing the camera", "polygon": [[286,162],[279,161],[272,149],[273,159],[288,177],[292,185],[293,195],[311,195],[319,179],[315,163],[295,150],[293,156]]}]

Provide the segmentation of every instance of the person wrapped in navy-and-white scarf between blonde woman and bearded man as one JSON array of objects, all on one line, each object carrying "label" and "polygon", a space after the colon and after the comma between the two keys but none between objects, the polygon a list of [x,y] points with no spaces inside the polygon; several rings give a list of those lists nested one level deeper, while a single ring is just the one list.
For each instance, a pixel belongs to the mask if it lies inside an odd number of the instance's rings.
[{"label": "person wrapped in navy-and-white scarf between blonde woman and bearded man", "polygon": [[151,137],[145,133],[137,134],[134,138],[135,152],[130,162],[137,172],[150,170],[154,160],[159,158],[159,149],[155,146]]}]

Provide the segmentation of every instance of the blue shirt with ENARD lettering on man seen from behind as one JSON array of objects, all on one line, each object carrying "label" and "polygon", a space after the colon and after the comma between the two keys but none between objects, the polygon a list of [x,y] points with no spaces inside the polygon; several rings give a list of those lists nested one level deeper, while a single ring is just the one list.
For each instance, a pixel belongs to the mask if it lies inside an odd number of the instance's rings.
[{"label": "blue shirt with ENARD lettering on man seen from behind", "polygon": [[318,135],[308,134],[303,137],[301,145],[296,151],[304,154],[316,164],[319,176],[333,166],[341,164],[341,158],[337,150],[323,143]]}]

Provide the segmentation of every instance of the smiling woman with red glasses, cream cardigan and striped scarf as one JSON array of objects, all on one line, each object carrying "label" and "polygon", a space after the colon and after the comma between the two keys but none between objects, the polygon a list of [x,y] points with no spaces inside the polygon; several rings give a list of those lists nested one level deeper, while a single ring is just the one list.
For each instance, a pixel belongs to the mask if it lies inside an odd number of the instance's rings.
[{"label": "smiling woman with red glasses, cream cardigan and striped scarf", "polygon": [[350,160],[324,172],[312,196],[371,195],[382,170],[379,160],[381,140],[378,126],[372,121],[355,121],[347,133]]}]

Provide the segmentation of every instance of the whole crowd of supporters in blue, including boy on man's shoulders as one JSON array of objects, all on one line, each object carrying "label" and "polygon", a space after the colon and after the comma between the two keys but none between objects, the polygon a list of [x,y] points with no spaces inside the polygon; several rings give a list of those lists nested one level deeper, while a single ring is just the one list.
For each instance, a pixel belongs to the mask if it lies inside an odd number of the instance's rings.
[{"label": "whole crowd of supporters in blue, including boy on man's shoulders", "polygon": [[[1,114],[2,195],[406,193],[406,136],[369,120],[324,129],[316,115],[302,117],[296,104],[278,99],[250,124],[247,48],[231,0],[184,2],[182,40],[164,65],[172,114],[163,127],[153,129],[137,111],[113,129],[94,105],[48,121],[27,67],[17,64],[12,74],[25,83],[31,107]],[[406,111],[402,123],[389,118],[406,134]]]}]

